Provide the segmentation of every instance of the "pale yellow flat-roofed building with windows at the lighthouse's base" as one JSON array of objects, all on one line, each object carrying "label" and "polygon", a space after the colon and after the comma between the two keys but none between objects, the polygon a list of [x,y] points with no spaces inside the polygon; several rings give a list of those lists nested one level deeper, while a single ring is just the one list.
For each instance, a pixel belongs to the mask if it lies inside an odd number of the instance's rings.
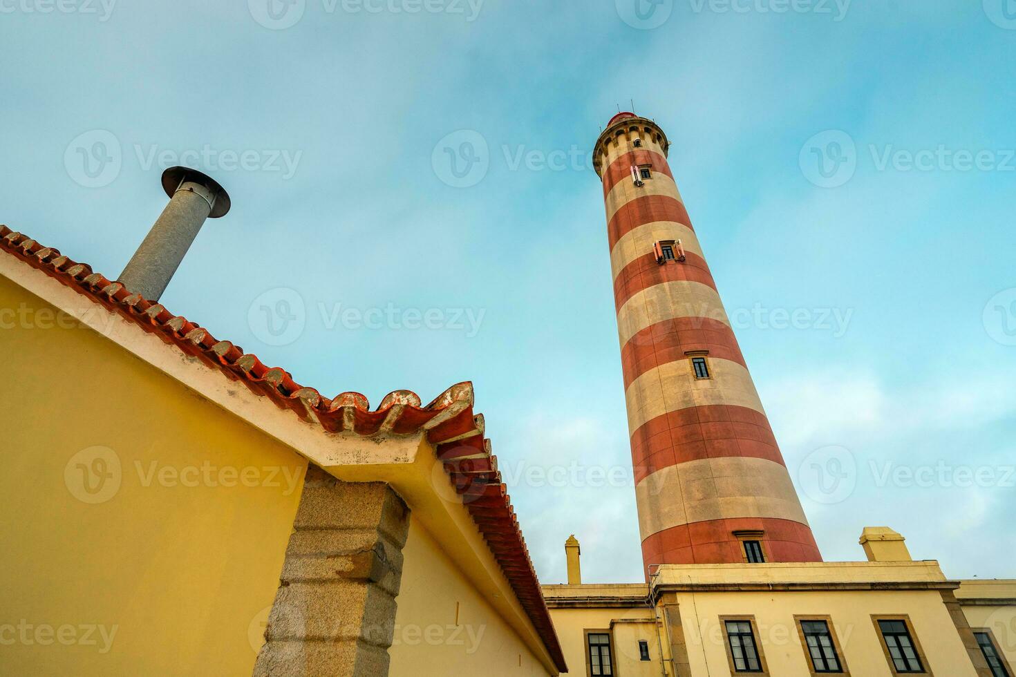
[{"label": "pale yellow flat-roofed building with windows at the lighthouse's base", "polygon": [[1016,674],[1016,581],[950,581],[894,532],[865,533],[868,561],[664,564],[647,585],[544,596],[572,674]]}]

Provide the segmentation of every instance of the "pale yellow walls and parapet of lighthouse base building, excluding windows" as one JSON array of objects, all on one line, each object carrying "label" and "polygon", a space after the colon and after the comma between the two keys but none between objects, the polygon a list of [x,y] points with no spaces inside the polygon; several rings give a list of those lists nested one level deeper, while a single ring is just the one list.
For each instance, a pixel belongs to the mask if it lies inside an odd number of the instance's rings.
[{"label": "pale yellow walls and parapet of lighthouse base building, excluding windows", "polygon": [[[824,590],[786,590],[812,585]],[[858,588],[859,585],[875,588]],[[769,674],[808,677],[809,661],[795,616],[828,616],[840,642],[850,674],[889,677],[891,672],[872,615],[907,615],[934,674],[939,677],[975,677],[942,593],[948,588],[936,561],[813,562],[781,564],[668,565],[653,580],[664,609],[681,617],[681,632],[694,675],[729,675],[721,616],[754,616]],[[689,590],[693,588],[694,592]],[[755,586],[752,589],[752,586]],[[766,586],[766,588],[762,588]],[[768,587],[771,586],[771,589]],[[931,589],[925,588],[931,586]],[[586,669],[585,629],[610,628],[619,677],[661,675],[660,647],[649,608],[608,606],[609,602],[646,594],[645,587],[626,585],[546,586],[551,609],[571,674]],[[964,582],[956,591],[964,599],[998,599],[999,606],[964,606],[971,626],[991,627],[1000,648],[1013,662],[1016,581]],[[597,603],[600,607],[590,607]],[[568,604],[561,607],[557,605]],[[637,621],[637,622],[631,622]],[[639,622],[640,621],[640,622]],[[638,660],[638,639],[649,641],[650,662]],[[664,657],[670,637],[662,637]],[[668,673],[672,674],[672,673]]]}]

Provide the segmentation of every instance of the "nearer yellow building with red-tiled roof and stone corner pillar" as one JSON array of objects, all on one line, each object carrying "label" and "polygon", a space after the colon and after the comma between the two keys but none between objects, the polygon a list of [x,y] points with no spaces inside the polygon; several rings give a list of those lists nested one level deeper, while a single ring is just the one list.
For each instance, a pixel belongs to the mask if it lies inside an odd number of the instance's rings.
[{"label": "nearer yellow building with red-tiled roof and stone corner pillar", "polygon": [[469,384],[325,398],[0,227],[0,674],[557,675]]}]

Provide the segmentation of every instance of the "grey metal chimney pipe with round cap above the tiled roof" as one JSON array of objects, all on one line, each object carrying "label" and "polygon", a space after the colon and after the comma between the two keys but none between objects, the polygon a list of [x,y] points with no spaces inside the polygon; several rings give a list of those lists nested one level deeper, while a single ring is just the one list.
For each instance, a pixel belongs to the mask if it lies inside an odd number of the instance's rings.
[{"label": "grey metal chimney pipe with round cap above the tiled roof", "polygon": [[171,166],[163,173],[170,203],[120,274],[128,291],[158,300],[206,218],[230,211],[230,196],[197,170]]}]

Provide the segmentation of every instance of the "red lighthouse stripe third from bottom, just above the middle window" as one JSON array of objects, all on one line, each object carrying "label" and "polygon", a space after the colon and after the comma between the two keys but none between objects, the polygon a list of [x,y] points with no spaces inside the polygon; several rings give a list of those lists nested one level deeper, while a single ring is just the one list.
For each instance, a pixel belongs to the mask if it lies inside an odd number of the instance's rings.
[{"label": "red lighthouse stripe third from bottom, just above the middle window", "polygon": [[710,357],[748,368],[734,330],[725,324],[711,318],[673,318],[649,325],[625,343],[621,349],[625,388],[649,369],[686,359],[688,350],[708,350]]}]

